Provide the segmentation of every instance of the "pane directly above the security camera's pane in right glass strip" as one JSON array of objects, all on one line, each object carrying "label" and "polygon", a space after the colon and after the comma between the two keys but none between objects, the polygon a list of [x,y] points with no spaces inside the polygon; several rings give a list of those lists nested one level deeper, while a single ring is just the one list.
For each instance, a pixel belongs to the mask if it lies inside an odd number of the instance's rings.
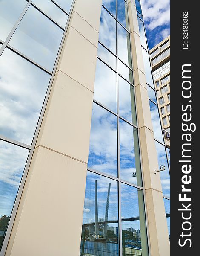
[{"label": "pane directly above the security camera's pane in right glass strip", "polygon": [[154,137],[157,140],[163,142],[163,131],[160,125],[160,116],[158,112],[158,107],[153,102],[149,100],[149,106],[151,111],[151,120],[154,128]]}]

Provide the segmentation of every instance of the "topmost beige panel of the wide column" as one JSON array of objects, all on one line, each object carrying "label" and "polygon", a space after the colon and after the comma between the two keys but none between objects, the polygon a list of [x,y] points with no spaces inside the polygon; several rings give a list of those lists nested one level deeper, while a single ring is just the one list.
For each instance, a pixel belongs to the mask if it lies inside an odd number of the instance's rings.
[{"label": "topmost beige panel of the wide column", "polygon": [[99,31],[102,0],[76,0],[74,9],[87,23]]}]

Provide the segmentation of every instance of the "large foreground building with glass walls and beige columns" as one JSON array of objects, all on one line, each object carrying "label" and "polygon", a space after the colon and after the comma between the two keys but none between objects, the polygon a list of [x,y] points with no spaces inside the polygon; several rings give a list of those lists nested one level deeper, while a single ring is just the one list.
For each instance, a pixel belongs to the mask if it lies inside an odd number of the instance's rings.
[{"label": "large foreground building with glass walls and beige columns", "polygon": [[140,1],[7,0],[0,18],[1,256],[169,256]]}]

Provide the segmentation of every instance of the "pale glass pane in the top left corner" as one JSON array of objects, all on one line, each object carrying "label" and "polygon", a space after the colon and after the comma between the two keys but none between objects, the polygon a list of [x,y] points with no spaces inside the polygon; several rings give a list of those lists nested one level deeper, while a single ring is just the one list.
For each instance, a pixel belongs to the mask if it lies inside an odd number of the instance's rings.
[{"label": "pale glass pane in the top left corner", "polygon": [[5,41],[27,2],[24,0],[0,1],[0,39]]}]

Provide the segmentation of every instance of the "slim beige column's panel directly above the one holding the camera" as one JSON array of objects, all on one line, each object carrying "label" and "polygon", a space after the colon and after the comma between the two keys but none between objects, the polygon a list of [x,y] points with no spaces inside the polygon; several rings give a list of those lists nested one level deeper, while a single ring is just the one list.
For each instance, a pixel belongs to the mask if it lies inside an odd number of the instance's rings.
[{"label": "slim beige column's panel directly above the one holding the camera", "polygon": [[139,128],[146,126],[153,131],[147,89],[141,85],[137,85],[135,87],[135,95],[137,99],[138,126]]}]

